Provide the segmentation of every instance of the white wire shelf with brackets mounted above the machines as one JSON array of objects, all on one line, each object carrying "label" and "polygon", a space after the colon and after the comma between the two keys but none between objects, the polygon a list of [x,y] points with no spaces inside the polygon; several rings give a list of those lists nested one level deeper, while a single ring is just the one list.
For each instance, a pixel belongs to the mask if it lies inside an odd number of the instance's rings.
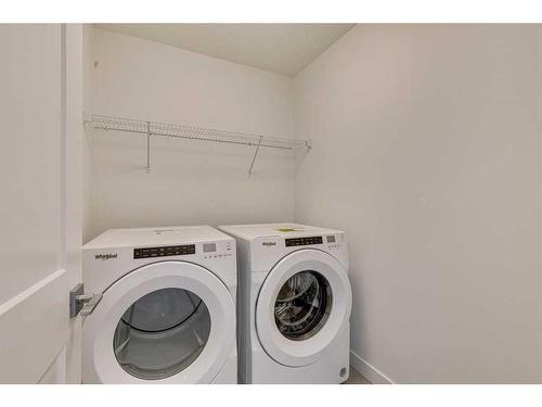
[{"label": "white wire shelf with brackets mounted above the machines", "polygon": [[147,137],[147,170],[151,169],[151,138],[169,137],[196,141],[207,141],[223,144],[237,144],[255,147],[256,151],[248,169],[251,174],[256,156],[260,148],[296,150],[310,149],[310,140],[286,139],[279,137],[269,137],[240,131],[217,130],[203,127],[179,125],[172,123],[146,122],[134,118],[106,116],[101,114],[86,114],[85,124],[99,130],[126,131],[130,133],[145,135]]}]

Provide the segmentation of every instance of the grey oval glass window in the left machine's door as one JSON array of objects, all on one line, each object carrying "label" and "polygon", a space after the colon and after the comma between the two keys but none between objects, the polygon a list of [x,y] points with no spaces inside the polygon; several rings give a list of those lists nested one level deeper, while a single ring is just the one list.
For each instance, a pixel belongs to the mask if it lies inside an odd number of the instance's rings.
[{"label": "grey oval glass window in the left machine's door", "polygon": [[203,352],[210,333],[210,315],[196,294],[179,288],[153,291],[122,314],[113,349],[131,376],[165,379],[189,367]]}]

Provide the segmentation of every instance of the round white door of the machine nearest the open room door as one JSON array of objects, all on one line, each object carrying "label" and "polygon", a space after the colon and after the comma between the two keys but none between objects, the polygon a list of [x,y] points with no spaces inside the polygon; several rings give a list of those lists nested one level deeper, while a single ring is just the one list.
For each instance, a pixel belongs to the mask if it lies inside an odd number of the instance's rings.
[{"label": "round white door of the machine nearest the open room door", "polygon": [[235,340],[235,307],[204,267],[162,262],[129,272],[83,321],[83,382],[209,383]]}]

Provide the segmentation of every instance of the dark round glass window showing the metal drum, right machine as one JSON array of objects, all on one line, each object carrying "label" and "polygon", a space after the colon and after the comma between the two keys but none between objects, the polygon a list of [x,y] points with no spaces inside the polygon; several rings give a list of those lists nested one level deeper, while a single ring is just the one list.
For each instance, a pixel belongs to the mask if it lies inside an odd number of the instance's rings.
[{"label": "dark round glass window showing the metal drum, right machine", "polygon": [[332,303],[332,289],[325,277],[313,270],[297,272],[286,280],[276,295],[276,327],[289,340],[307,340],[325,325]]}]

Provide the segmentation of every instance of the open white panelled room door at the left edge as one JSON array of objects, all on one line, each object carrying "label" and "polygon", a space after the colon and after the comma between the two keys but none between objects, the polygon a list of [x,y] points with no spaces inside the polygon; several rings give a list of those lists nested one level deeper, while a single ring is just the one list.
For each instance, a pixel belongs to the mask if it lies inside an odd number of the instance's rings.
[{"label": "open white panelled room door at the left edge", "polygon": [[81,38],[0,25],[0,383],[80,378]]}]

